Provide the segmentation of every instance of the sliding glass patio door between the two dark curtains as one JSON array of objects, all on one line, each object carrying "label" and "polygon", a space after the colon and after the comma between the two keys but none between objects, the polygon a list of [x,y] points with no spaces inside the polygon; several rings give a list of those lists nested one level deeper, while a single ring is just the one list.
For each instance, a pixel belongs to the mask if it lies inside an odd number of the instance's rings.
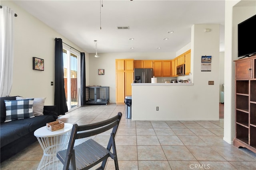
[{"label": "sliding glass patio door between the two dark curtains", "polygon": [[78,107],[80,94],[80,53],[63,45],[64,83],[68,111]]}]

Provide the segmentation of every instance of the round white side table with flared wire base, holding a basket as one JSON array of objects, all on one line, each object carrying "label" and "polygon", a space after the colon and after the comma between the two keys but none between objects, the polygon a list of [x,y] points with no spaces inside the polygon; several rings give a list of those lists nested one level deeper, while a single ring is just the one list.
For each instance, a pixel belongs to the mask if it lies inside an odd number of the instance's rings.
[{"label": "round white side table with flared wire base, holding a basket", "polygon": [[46,126],[44,126],[34,132],[34,135],[44,151],[44,155],[37,168],[38,170],[57,170],[63,168],[62,163],[60,163],[56,157],[56,153],[67,148],[72,127],[72,124],[64,123],[64,128],[56,131],[49,131],[46,129]]}]

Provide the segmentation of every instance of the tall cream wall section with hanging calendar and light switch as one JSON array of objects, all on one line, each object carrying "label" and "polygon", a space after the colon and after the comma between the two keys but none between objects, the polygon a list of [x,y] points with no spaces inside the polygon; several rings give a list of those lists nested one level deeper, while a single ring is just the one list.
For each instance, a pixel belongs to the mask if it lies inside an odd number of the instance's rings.
[{"label": "tall cream wall section with hanging calendar and light switch", "polygon": [[[204,32],[204,29],[210,32]],[[218,117],[219,113],[219,24],[195,24],[191,31],[191,73],[194,83],[194,107],[204,114]],[[212,56],[211,71],[201,71],[202,56]],[[208,85],[214,81],[214,85]]]}]

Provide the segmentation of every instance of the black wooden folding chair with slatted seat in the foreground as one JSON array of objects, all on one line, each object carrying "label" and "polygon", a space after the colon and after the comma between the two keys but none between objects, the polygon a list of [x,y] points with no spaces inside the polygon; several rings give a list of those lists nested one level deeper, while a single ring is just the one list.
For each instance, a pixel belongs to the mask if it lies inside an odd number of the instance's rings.
[{"label": "black wooden folding chair with slatted seat in the foreground", "polygon": [[[115,168],[118,170],[118,160],[116,155],[115,135],[118,125],[121,121],[122,113],[110,119],[98,123],[78,126],[73,125],[68,149],[57,152],[57,158],[64,165],[63,170],[88,170],[101,163],[96,170],[104,170],[108,157],[115,162]],[[80,145],[74,147],[76,139],[82,139],[112,129],[107,147],[103,147],[93,139],[89,139]],[[112,152],[111,152],[112,148]],[[100,164],[99,164],[100,165]]]}]

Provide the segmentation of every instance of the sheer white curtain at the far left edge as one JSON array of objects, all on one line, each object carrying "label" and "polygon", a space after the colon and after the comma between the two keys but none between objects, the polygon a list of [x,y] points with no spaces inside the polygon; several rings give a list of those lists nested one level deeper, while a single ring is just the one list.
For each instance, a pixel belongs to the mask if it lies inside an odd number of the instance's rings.
[{"label": "sheer white curtain at the far left edge", "polygon": [[0,9],[0,93],[9,96],[12,88],[14,11]]}]

